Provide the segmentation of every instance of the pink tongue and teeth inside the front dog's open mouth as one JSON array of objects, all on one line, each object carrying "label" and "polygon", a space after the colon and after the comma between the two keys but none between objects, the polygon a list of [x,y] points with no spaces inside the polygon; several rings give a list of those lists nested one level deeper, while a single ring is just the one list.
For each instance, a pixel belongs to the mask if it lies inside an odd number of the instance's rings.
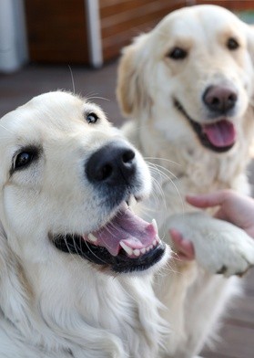
[{"label": "pink tongue and teeth inside the front dog's open mouth", "polygon": [[92,235],[95,240],[93,244],[106,247],[113,256],[117,256],[121,247],[125,247],[129,256],[134,250],[142,250],[141,252],[145,253],[147,247],[155,244],[155,239],[158,241],[156,227],[136,216],[127,207],[118,212],[107,226]]}]

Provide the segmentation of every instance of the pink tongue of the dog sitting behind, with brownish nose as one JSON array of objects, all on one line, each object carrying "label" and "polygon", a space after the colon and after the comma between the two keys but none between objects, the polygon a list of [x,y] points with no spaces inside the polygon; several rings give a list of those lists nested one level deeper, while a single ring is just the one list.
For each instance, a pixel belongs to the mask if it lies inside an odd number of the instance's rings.
[{"label": "pink tongue of the dog sitting behind, with brownish nose", "polygon": [[232,145],[236,140],[234,125],[226,120],[205,125],[203,132],[207,134],[209,142],[216,147],[227,147]]}]

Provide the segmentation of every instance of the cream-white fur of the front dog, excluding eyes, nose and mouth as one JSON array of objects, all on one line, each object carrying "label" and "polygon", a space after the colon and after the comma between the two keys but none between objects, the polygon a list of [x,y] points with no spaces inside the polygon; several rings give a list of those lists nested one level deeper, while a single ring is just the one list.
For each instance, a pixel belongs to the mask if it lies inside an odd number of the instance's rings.
[{"label": "cream-white fur of the front dog, excluding eyes, nose and mouth", "polygon": [[[89,112],[97,113],[95,125],[86,122]],[[87,233],[112,216],[101,204],[107,197],[87,182],[85,163],[116,139],[125,142],[96,105],[61,91],[1,119],[1,357],[157,358],[168,328],[158,314],[153,269],[114,277],[59,251],[48,237],[51,230]],[[31,145],[40,148],[38,159],[13,171],[17,153]],[[136,157],[144,196],[150,175]]]}]

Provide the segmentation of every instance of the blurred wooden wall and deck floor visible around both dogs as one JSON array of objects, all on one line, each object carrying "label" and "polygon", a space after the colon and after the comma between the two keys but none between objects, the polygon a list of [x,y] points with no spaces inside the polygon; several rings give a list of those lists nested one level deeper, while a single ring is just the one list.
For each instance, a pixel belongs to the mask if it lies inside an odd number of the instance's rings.
[{"label": "blurred wooden wall and deck floor visible around both dogs", "polygon": [[[0,0],[0,118],[32,97],[66,89],[86,96],[117,126],[121,48],[183,6],[216,4],[254,25],[252,0]],[[253,164],[252,164],[253,166]],[[249,177],[254,183],[254,170]],[[246,296],[229,308],[206,358],[254,358],[254,270]]]}]

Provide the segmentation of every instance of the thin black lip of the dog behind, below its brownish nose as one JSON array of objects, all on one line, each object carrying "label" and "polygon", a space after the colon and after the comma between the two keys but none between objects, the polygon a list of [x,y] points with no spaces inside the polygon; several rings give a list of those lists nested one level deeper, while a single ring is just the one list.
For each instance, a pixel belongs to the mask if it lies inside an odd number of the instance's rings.
[{"label": "thin black lip of the dog behind, below its brownish nose", "polygon": [[177,108],[177,110],[183,114],[183,116],[188,120],[188,122],[190,123],[191,127],[193,128],[193,130],[196,132],[196,134],[198,135],[198,139],[201,142],[201,144],[208,148],[209,150],[216,152],[216,153],[225,153],[228,152],[233,146],[234,143],[225,147],[217,147],[215,145],[213,145],[211,142],[209,142],[208,140],[208,136],[206,133],[204,133],[202,131],[202,127],[201,125],[197,122],[194,121],[189,115],[188,112],[185,111],[184,107],[182,106],[182,104],[179,102],[179,100],[177,100],[176,98],[173,99],[174,102],[174,106]]}]

